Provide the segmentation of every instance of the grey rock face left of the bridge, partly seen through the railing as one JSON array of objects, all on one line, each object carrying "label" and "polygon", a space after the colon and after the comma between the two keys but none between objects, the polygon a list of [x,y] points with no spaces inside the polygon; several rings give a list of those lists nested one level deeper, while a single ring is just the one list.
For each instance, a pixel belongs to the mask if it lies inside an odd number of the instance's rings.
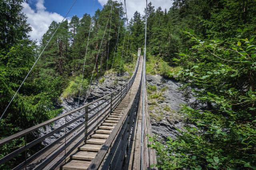
[{"label": "grey rock face left of the bridge, partly seen through the railing", "polygon": [[[82,104],[87,104],[89,102],[92,102],[93,100],[96,100],[102,96],[105,96],[106,94],[116,90],[117,88],[125,84],[128,80],[129,80],[129,75],[127,72],[125,72],[122,76],[118,76],[117,74],[113,74],[113,73],[105,75],[104,82],[100,83],[99,80],[92,82],[90,86],[90,90],[88,92],[89,94],[88,98],[85,100],[85,96],[82,96],[79,101],[79,106],[82,106]],[[59,115],[64,114],[73,109],[76,109],[78,107],[78,96],[76,96],[75,98],[61,98],[61,99],[62,99],[62,104],[60,104],[59,106],[56,106],[56,108],[63,108],[62,113],[60,113]],[[101,102],[103,102],[103,100],[99,101],[99,103]],[[96,111],[92,111],[92,113],[90,113],[88,117],[92,116],[95,112]],[[48,125],[45,129],[41,128],[40,136],[45,135],[46,133],[49,133],[50,131],[60,127],[61,125],[64,125],[66,121],[69,122],[81,114],[83,114],[82,111],[78,111],[74,114],[70,114],[66,116],[66,119],[62,118],[62,119],[59,119],[58,121],[55,121],[52,125]],[[68,125],[66,132],[76,127],[79,123],[81,123],[81,121],[83,120],[80,119]],[[55,133],[54,135],[46,138],[42,142],[42,144],[47,146],[50,143],[56,141],[56,139],[58,139],[64,134],[65,134],[65,129],[61,129],[60,131],[58,131],[58,133]],[[76,131],[73,133],[73,135],[74,136],[76,135]]]}]

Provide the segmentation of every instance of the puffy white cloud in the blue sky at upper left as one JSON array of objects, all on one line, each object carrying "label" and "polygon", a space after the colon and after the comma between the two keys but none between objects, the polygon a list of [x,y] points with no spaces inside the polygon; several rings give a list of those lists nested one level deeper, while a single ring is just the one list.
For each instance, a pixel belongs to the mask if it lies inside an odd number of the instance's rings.
[{"label": "puffy white cloud in the blue sky at upper left", "polygon": [[36,10],[33,10],[28,3],[23,3],[22,6],[24,14],[28,17],[28,23],[32,27],[30,32],[30,39],[39,41],[48,30],[52,21],[61,22],[63,16],[56,12],[48,12],[44,6],[44,0],[36,2]]}]

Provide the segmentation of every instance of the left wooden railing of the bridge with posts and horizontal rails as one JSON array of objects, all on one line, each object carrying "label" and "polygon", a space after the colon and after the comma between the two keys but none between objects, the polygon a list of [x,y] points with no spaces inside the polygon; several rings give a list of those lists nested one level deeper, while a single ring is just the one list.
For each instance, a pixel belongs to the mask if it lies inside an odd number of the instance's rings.
[{"label": "left wooden railing of the bridge with posts and horizontal rails", "polygon": [[[90,133],[98,127],[100,122],[107,117],[108,113],[110,113],[112,109],[119,104],[122,98],[124,98],[134,82],[134,78],[138,70],[138,64],[139,57],[130,80],[110,94],[0,140],[0,146],[12,143],[19,139],[24,139],[25,142],[22,147],[14,149],[11,153],[0,158],[0,165],[5,164],[8,161],[13,161],[13,164],[15,165],[12,167],[13,169],[42,169],[52,162],[60,153],[64,152],[64,156],[57,160],[53,166],[56,166],[58,163],[63,161],[82,141],[86,142]],[[47,131],[46,134],[37,137],[33,141],[27,140],[28,136],[34,137],[35,134],[47,129],[47,127],[56,121],[64,121],[65,123],[56,127],[56,129]],[[42,148],[42,142],[44,140],[60,132],[62,132],[63,135],[60,135],[58,139]],[[81,137],[81,139],[78,140],[79,137]],[[75,144],[74,141],[76,141]],[[31,150],[35,150],[35,147],[41,147],[42,149],[37,149],[37,152],[34,153]],[[23,158],[23,160],[15,161],[15,158]],[[15,164],[15,162],[19,163]]]}]

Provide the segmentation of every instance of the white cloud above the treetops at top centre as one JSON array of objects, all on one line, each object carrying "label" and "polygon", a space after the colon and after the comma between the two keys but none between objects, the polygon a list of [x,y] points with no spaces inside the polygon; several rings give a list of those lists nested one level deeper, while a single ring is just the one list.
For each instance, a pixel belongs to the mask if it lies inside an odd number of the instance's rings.
[{"label": "white cloud above the treetops at top centre", "polygon": [[[107,3],[108,0],[98,0],[98,2],[103,6]],[[167,11],[172,6],[173,0],[148,0],[152,2],[152,5],[157,9],[159,6],[164,10],[165,8]],[[119,2],[119,0],[118,0]],[[121,0],[124,4],[124,0]],[[144,8],[146,7],[146,0],[126,0],[126,10],[127,10],[127,17],[128,19],[133,17],[135,11],[140,12],[141,15],[144,15]]]}]

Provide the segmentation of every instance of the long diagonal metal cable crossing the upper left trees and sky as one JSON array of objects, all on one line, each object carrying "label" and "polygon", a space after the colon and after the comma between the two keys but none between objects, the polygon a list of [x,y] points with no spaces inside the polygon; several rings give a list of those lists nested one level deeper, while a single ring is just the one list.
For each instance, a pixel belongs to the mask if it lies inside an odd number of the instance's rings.
[{"label": "long diagonal metal cable crossing the upper left trees and sky", "polygon": [[[70,9],[68,10],[68,12],[66,13],[65,17],[63,18],[63,20],[59,23],[58,27],[56,28],[56,30],[54,31],[54,33],[52,34],[52,37],[54,36],[54,34],[56,33],[56,31],[58,30],[58,28],[60,27],[60,24],[62,24],[62,22],[64,21],[64,19],[66,19],[66,17],[68,16],[70,10],[73,8],[74,4],[76,3],[77,0],[74,0],[72,6],[70,7]],[[4,116],[4,113],[6,113],[7,109],[9,108],[10,104],[12,103],[12,101],[14,100],[15,96],[18,94],[21,86],[24,84],[25,80],[28,78],[28,75],[30,74],[30,72],[32,71],[32,69],[34,68],[34,66],[36,65],[38,59],[41,57],[42,53],[44,52],[44,50],[46,49],[47,45],[49,44],[49,42],[51,41],[52,37],[50,37],[49,41],[47,42],[47,44],[44,46],[43,51],[40,53],[40,55],[38,56],[38,58],[36,59],[35,63],[32,65],[32,67],[30,68],[28,74],[26,75],[26,77],[24,78],[24,80],[22,81],[22,83],[20,84],[18,90],[15,92],[14,96],[12,97],[12,100],[9,102],[9,104],[7,105],[7,107],[4,109],[3,114],[1,115],[0,119],[2,119],[2,117]]]}]

